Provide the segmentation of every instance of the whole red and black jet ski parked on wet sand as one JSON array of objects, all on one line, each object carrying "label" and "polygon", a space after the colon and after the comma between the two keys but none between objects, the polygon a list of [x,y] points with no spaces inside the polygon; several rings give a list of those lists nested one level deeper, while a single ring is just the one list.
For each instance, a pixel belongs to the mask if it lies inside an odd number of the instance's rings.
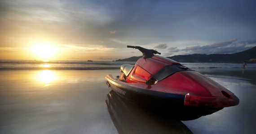
[{"label": "whole red and black jet ski parked on wet sand", "polygon": [[134,66],[122,65],[119,79],[106,75],[106,84],[119,96],[141,107],[198,116],[239,104],[228,89],[181,63],[155,55],[161,54],[156,50],[127,47],[140,50],[143,57]]}]

